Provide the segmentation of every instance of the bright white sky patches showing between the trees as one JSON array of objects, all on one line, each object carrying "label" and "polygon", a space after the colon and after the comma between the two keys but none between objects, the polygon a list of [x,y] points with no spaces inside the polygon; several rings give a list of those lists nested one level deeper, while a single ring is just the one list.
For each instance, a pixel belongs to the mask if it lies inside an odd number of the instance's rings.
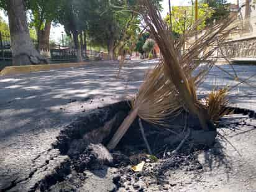
[{"label": "bright white sky patches showing between the trees", "polygon": [[[227,0],[227,2],[235,3],[236,0]],[[171,0],[171,6],[189,6],[189,5],[191,5],[191,0]],[[162,7],[163,7],[162,16],[164,17],[167,15],[169,11],[168,0],[163,0]],[[8,18],[6,14],[4,14],[4,11],[2,10],[0,11],[0,16],[6,22],[8,22]],[[64,27],[62,25],[58,25],[58,27],[52,26],[52,29],[50,32],[50,39],[60,42],[60,39],[62,38],[62,32],[65,32]]]}]

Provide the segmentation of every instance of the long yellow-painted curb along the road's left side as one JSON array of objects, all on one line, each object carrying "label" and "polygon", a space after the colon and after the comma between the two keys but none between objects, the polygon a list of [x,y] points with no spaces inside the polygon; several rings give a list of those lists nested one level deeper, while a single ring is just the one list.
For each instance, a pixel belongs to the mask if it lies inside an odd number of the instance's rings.
[{"label": "long yellow-painted curb along the road's left side", "polygon": [[56,63],[56,64],[46,64],[46,65],[6,66],[2,71],[0,71],[0,76],[25,74],[25,73],[31,73],[31,72],[37,72],[37,71],[58,70],[61,68],[84,66],[86,64],[89,64],[89,62]]}]

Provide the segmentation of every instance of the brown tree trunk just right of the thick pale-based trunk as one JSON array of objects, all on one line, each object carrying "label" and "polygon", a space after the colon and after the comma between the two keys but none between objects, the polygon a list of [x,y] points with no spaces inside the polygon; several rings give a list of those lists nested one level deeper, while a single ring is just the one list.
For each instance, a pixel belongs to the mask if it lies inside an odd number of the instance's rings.
[{"label": "brown tree trunk just right of the thick pale-based trunk", "polygon": [[42,30],[39,30],[37,37],[39,39],[39,50],[49,50],[50,49],[50,29],[51,29],[52,22],[46,21],[45,27]]}]

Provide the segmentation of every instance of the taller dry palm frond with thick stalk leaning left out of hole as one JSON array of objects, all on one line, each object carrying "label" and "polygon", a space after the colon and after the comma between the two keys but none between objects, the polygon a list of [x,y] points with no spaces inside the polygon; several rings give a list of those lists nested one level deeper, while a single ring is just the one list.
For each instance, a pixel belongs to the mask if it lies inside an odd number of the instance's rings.
[{"label": "taller dry palm frond with thick stalk leaning left out of hole", "polygon": [[[147,10],[144,14],[144,21],[149,26],[150,32],[155,37],[155,40],[163,55],[163,69],[165,78],[170,80],[170,89],[174,89],[178,97],[181,98],[187,109],[191,114],[198,116],[201,126],[208,129],[209,117],[207,111],[200,106],[196,96],[196,83],[201,80],[202,72],[193,77],[192,72],[198,67],[199,62],[194,59],[199,56],[199,53],[205,52],[209,45],[212,45],[218,40],[224,40],[230,30],[226,27],[231,24],[231,21],[224,22],[224,24],[217,24],[212,29],[205,32],[199,37],[193,45],[190,46],[188,52],[183,55],[178,54],[175,49],[174,40],[171,38],[170,32],[165,22],[161,19],[159,12],[155,9],[150,0],[141,0],[144,9]],[[202,60],[206,60],[212,53],[214,48],[208,50],[204,54]],[[176,97],[177,98],[177,97]]]}]

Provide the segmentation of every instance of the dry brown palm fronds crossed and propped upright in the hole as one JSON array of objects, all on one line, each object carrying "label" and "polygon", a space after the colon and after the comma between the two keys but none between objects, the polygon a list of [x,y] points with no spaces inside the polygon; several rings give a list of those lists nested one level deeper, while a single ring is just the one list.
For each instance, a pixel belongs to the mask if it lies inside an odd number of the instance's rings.
[{"label": "dry brown palm fronds crossed and propped upright in the hole", "polygon": [[[198,101],[196,87],[203,81],[209,68],[214,65],[214,60],[210,62],[206,62],[206,60],[216,50],[217,42],[224,40],[232,30],[226,30],[232,21],[214,25],[204,32],[187,52],[180,54],[180,50],[177,48],[182,46],[176,46],[167,25],[152,2],[140,0],[140,8],[145,24],[149,27],[150,33],[160,48],[163,60],[147,74],[144,83],[140,86],[139,93],[132,101],[130,115],[126,117],[107,146],[109,149],[116,147],[137,116],[145,121],[164,126],[165,119],[176,116],[185,110],[198,116],[203,129],[211,129],[213,126],[211,113]],[[186,34],[188,37],[190,36],[188,32]],[[204,54],[199,57],[202,52]],[[201,62],[206,63],[205,68],[193,75],[194,70]]]}]

